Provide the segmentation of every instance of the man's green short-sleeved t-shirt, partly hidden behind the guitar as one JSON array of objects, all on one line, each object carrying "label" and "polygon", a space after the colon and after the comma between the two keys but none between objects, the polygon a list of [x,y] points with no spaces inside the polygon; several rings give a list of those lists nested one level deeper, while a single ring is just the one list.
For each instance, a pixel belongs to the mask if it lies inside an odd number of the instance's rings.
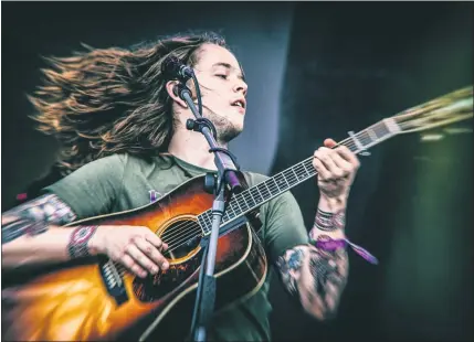
[{"label": "man's green short-sleeved t-shirt, partly hidden behind the guitar", "polygon": [[[45,191],[62,199],[81,220],[146,205],[150,203],[150,192],[159,197],[208,171],[170,154],[149,159],[114,154],[80,168]],[[243,173],[249,186],[267,179]],[[299,206],[291,192],[265,203],[260,211],[263,226],[259,234],[271,265],[286,249],[308,242]],[[271,274],[253,297],[217,316],[209,333],[219,341],[268,341]]]}]

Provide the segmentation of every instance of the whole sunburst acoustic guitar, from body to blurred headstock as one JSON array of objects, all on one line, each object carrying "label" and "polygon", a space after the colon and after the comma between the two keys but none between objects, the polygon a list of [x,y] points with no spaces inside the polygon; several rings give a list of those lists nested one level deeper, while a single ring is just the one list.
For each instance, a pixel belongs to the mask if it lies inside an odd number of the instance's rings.
[{"label": "whole sunburst acoustic guitar, from body to blurred headstock", "polygon": [[[350,133],[339,145],[365,153],[397,135],[472,117],[470,86]],[[315,175],[308,158],[228,201],[215,263],[218,312],[250,298],[265,281],[268,265],[255,233],[257,209]],[[3,280],[10,284],[2,289],[2,340],[185,339],[191,325],[203,246],[211,232],[213,195],[206,192],[203,177],[143,207],[69,225],[147,226],[169,246],[165,256],[170,268],[166,271],[141,279],[103,256],[3,271]]]}]

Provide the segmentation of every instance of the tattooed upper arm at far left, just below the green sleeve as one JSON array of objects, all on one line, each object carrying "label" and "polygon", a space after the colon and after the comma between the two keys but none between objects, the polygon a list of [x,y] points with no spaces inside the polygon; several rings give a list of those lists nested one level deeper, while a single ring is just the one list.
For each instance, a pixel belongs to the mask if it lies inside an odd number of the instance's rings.
[{"label": "tattooed upper arm at far left, just below the green sleeve", "polygon": [[51,224],[65,225],[75,218],[73,211],[56,195],[45,194],[3,213],[1,243],[42,234]]}]

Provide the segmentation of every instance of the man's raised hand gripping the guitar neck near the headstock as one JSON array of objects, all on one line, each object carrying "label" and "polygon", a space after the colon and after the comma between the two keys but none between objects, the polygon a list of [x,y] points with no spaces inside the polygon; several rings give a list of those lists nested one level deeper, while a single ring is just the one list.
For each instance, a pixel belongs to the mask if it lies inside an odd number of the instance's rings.
[{"label": "man's raised hand gripping the guitar neck near the headstock", "polygon": [[349,195],[350,186],[360,162],[347,147],[339,146],[333,139],[326,139],[324,147],[314,153],[313,165],[318,172],[318,186],[327,199],[340,199]]}]

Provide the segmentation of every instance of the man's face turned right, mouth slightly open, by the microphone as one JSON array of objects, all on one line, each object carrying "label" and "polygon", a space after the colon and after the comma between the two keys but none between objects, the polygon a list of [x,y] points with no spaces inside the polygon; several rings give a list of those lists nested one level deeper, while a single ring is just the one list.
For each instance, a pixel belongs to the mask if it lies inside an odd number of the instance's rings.
[{"label": "man's face turned right, mouth slightly open, by the microphone", "polygon": [[227,49],[204,44],[193,70],[198,78],[203,117],[214,124],[218,140],[227,143],[243,130],[247,85],[235,56]]}]

